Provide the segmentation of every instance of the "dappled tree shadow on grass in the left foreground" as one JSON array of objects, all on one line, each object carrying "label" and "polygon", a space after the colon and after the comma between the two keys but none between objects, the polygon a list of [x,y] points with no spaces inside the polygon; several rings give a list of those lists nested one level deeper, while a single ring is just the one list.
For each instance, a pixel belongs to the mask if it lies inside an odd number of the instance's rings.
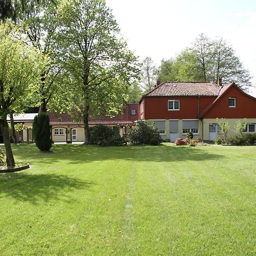
[{"label": "dappled tree shadow on grass in the left foreground", "polygon": [[91,181],[83,181],[73,177],[56,174],[0,174],[0,199],[13,197],[15,200],[37,204],[39,201],[71,199],[70,192],[89,189],[94,185]]}]

